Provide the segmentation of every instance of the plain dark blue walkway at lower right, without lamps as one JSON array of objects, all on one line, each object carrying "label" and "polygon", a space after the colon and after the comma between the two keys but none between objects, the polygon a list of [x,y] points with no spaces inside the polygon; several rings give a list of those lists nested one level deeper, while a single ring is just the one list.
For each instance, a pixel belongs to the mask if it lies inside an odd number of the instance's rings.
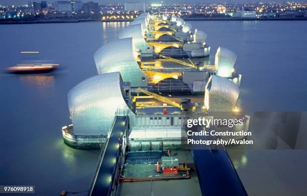
[{"label": "plain dark blue walkway at lower right, without lamps", "polygon": [[[202,127],[195,126],[196,131]],[[216,136],[206,136],[206,140],[217,140]],[[222,145],[212,145],[206,149],[193,149],[193,159],[202,195],[247,196],[241,179]]]}]

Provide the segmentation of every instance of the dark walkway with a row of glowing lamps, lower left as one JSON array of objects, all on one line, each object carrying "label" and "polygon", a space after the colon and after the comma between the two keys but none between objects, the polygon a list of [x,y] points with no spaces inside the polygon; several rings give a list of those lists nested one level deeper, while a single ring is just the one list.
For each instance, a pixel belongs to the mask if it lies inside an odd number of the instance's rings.
[{"label": "dark walkway with a row of glowing lamps, lower left", "polygon": [[128,138],[128,116],[115,116],[110,137],[98,160],[89,195],[115,195]]}]

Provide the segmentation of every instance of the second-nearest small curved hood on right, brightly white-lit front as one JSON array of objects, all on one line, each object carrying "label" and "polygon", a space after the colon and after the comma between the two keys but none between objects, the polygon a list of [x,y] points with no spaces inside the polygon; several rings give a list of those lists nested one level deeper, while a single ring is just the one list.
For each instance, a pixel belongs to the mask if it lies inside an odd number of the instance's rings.
[{"label": "second-nearest small curved hood on right, brightly white-lit front", "polygon": [[237,55],[230,49],[219,47],[215,54],[215,64],[217,66],[217,75],[231,77],[234,63]]}]

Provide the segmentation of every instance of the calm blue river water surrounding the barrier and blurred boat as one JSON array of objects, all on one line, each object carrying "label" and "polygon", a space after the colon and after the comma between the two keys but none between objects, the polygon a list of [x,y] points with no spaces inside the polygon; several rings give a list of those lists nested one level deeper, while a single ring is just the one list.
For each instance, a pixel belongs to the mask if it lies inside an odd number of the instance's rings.
[{"label": "calm blue river water surrounding the barrier and blurred boat", "polygon": [[[219,46],[237,54],[243,110],[307,110],[307,21],[191,23],[208,34],[212,62]],[[0,185],[36,185],[38,195],[88,189],[99,151],[77,150],[63,143],[61,127],[70,123],[67,92],[97,74],[93,53],[117,39],[127,24],[0,25],[1,69],[23,63],[20,51],[40,51],[39,60],[53,60],[62,66],[43,75],[0,70]],[[250,195],[307,192],[305,150],[230,154]]]}]

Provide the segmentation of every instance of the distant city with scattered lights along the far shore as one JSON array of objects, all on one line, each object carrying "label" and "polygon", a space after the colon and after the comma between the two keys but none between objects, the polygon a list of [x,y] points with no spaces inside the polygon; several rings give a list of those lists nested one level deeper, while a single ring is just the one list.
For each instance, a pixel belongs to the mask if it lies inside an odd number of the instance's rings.
[{"label": "distant city with scattered lights along the far shore", "polygon": [[[179,15],[183,18],[306,18],[307,3],[223,3],[223,4],[164,4],[163,1],[158,3],[145,4],[136,6],[130,4],[129,9],[122,4],[99,5],[97,2],[79,3],[71,1],[74,6],[71,8],[61,8],[52,4],[45,7],[34,4],[21,5],[0,5],[0,20],[12,20],[17,22],[37,20],[37,16],[42,16],[40,20],[53,20],[55,17],[66,17],[63,20],[80,18],[90,18],[93,20],[110,19],[110,20],[132,20],[142,12],[164,12],[166,15]],[[64,3],[65,4],[65,3]],[[38,6],[36,6],[38,5]],[[83,6],[81,6],[83,5]],[[86,5],[86,6],[85,6]],[[144,7],[144,8],[142,8]],[[105,18],[100,16],[104,15]],[[124,15],[124,18],[122,17]],[[159,14],[158,14],[159,16]],[[12,22],[10,21],[10,22]],[[6,21],[5,21],[6,23]],[[14,22],[13,22],[14,23]]]}]

